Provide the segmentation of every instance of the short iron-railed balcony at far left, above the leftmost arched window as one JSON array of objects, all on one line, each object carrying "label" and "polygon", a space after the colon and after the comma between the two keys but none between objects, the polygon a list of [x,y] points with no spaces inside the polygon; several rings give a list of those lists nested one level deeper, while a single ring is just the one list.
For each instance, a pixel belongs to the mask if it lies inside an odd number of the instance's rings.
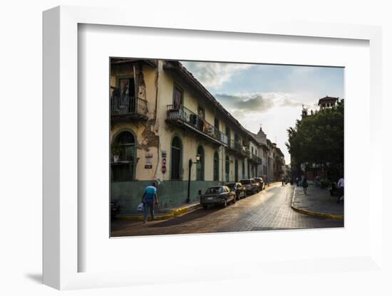
[{"label": "short iron-railed balcony at far left, above the leftmost arched window", "polygon": [[147,120],[147,101],[140,97],[112,98],[110,105],[110,120],[112,122],[127,122]]}]

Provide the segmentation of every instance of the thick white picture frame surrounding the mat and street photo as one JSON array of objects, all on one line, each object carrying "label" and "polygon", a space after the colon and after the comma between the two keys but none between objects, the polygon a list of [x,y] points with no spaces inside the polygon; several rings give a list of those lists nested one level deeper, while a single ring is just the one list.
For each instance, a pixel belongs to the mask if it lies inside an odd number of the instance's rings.
[{"label": "thick white picture frame surrounding the mat and street photo", "polygon": [[[370,48],[370,99],[371,141],[366,151],[371,154],[370,176],[381,171],[382,157],[376,153],[381,134],[380,106],[382,99],[381,79],[381,28],[333,23],[270,22],[240,23],[235,26],[228,20],[220,23],[197,18],[172,25],[164,17],[143,18],[143,14],[133,14],[124,9],[98,9],[76,6],[58,6],[43,13],[43,283],[60,290],[87,287],[115,287],[148,283],[181,282],[192,280],[222,280],[229,276],[227,267],[204,264],[190,265],[192,271],[183,273],[175,268],[167,270],[165,276],[157,271],[138,267],[130,271],[78,272],[78,258],[83,252],[78,248],[78,24],[87,23],[105,26],[130,26],[167,29],[197,30],[214,32],[237,32],[239,34],[267,34],[274,36],[302,36],[309,38],[357,39],[368,41]],[[321,263],[326,270],[334,270],[333,265],[349,270],[379,270],[382,268],[382,192],[375,186],[374,178],[368,178],[373,189],[372,203],[369,203],[368,225],[369,246],[361,256],[355,258],[314,258],[290,263],[300,272],[311,269],[313,263]],[[254,233],[254,235],[257,235]],[[210,235],[211,236],[211,235]],[[219,238],[219,236],[216,236]],[[158,238],[159,239],[159,238]],[[163,238],[161,238],[163,239]],[[193,237],[192,240],[197,240]],[[284,263],[263,262],[263,265],[243,262],[232,268],[252,270],[254,275],[279,273],[277,266],[287,269]],[[348,267],[347,267],[348,266]],[[305,270],[305,271],[304,271]],[[344,270],[341,268],[339,270]],[[339,272],[338,270],[338,272]],[[294,273],[294,271],[292,271]],[[202,274],[202,276],[200,275]],[[146,277],[149,275],[149,277]],[[197,277],[200,275],[200,277]],[[240,273],[245,277],[247,273]]]}]

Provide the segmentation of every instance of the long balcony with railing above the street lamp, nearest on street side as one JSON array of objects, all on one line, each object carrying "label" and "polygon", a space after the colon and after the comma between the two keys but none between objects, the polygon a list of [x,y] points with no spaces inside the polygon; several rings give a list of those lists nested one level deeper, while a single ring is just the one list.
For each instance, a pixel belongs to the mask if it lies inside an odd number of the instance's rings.
[{"label": "long balcony with railing above the street lamp, nearest on street side", "polygon": [[198,117],[183,105],[167,105],[166,114],[167,123],[191,129],[193,132],[210,139],[212,142],[227,147],[228,140],[226,134]]}]

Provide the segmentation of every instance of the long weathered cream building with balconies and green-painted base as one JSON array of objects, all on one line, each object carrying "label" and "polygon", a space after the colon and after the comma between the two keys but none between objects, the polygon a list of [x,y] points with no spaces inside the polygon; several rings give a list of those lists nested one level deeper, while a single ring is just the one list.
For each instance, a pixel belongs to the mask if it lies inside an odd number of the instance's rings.
[{"label": "long weathered cream building with balconies and green-painted base", "polygon": [[[158,181],[160,208],[258,175],[259,142],[183,65],[110,60],[110,194],[133,212]],[[188,200],[189,201],[189,200]]]}]

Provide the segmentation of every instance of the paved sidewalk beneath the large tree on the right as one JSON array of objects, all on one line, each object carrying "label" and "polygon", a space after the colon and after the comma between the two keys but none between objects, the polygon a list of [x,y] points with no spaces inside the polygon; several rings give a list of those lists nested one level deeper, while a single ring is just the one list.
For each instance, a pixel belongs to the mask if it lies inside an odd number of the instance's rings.
[{"label": "paved sidewalk beneath the large tree on the right", "polygon": [[294,211],[311,216],[343,219],[344,203],[336,203],[337,197],[331,196],[327,189],[320,189],[309,184],[307,194],[302,187],[294,185],[292,208]]}]

